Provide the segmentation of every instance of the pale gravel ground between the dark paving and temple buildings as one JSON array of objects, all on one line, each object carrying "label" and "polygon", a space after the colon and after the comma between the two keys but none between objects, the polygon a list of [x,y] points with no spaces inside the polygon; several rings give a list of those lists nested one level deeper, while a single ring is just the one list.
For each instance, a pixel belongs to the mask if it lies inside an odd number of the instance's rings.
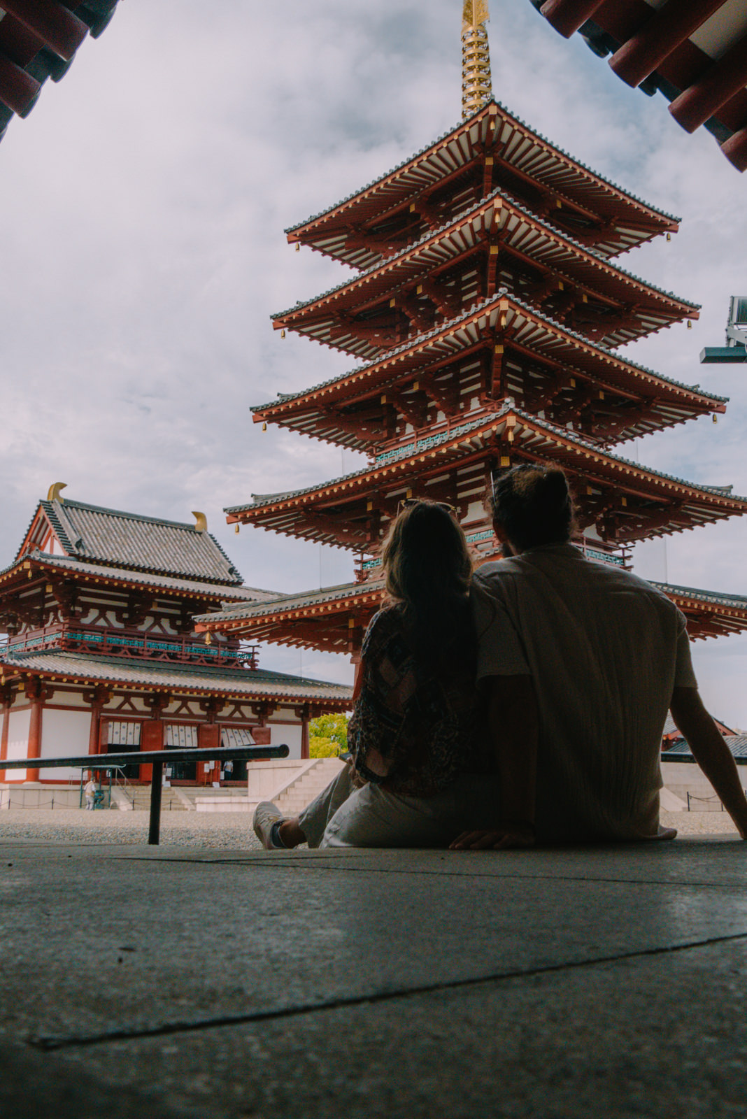
[{"label": "pale gravel ground between the dark paving and temple buildings", "polygon": [[[661,822],[677,828],[681,836],[737,834],[727,812],[662,812]],[[11,808],[0,812],[0,841],[3,839],[146,844],[148,812]],[[163,812],[161,843],[163,846],[224,850],[261,848],[248,812]]]}]

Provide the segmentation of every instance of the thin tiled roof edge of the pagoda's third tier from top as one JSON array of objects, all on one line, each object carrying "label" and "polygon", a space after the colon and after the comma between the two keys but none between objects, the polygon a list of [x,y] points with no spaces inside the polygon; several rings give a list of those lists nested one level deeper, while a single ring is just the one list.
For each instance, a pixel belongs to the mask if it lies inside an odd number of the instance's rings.
[{"label": "thin tiled roof edge of the pagoda's third tier from top", "polygon": [[[692,385],[685,385],[682,382],[673,380],[668,377],[663,377],[661,374],[646,366],[639,365],[635,361],[631,361],[630,358],[623,357],[615,350],[609,350],[598,342],[593,342],[588,338],[579,335],[577,331],[571,330],[546,314],[542,314],[536,308],[530,307],[530,304],[524,303],[522,300],[518,299],[508,292],[505,288],[501,288],[494,295],[488,297],[481,302],[473,304],[467,311],[458,316],[455,319],[451,319],[447,322],[442,322],[433,330],[424,333],[419,333],[416,338],[409,339],[401,346],[397,346],[388,350],[385,355],[375,361],[368,361],[358,368],[351,369],[349,373],[342,376],[332,377],[329,380],[321,382],[319,385],[314,385],[311,388],[302,389],[299,393],[283,393],[280,401],[272,401],[266,404],[256,404],[250,407],[255,423],[261,421],[281,422],[281,416],[283,413],[290,413],[294,406],[299,408],[304,407],[308,404],[313,404],[319,394],[325,394],[332,388],[347,389],[356,384],[357,382],[363,382],[367,378],[371,379],[371,387],[377,384],[376,375],[379,373],[387,373],[389,366],[399,363],[405,355],[412,352],[413,355],[419,355],[422,357],[423,351],[428,347],[428,345],[436,342],[450,333],[454,333],[460,327],[465,326],[469,322],[473,322],[481,319],[485,312],[499,312],[503,310],[510,310],[511,307],[518,309],[520,312],[531,318],[537,323],[542,325],[547,328],[554,336],[567,339],[571,346],[575,348],[583,347],[586,351],[597,355],[602,361],[608,364],[611,361],[616,363],[620,367],[633,370],[637,375],[643,375],[649,378],[656,386],[664,386],[672,389],[679,389],[692,394],[692,398],[698,402],[702,402],[708,405],[708,402],[712,402],[715,406],[713,410],[719,410],[720,405],[726,405],[728,397],[716,396],[710,393],[702,393],[699,388],[693,388]],[[420,361],[418,357],[418,361]]]}]

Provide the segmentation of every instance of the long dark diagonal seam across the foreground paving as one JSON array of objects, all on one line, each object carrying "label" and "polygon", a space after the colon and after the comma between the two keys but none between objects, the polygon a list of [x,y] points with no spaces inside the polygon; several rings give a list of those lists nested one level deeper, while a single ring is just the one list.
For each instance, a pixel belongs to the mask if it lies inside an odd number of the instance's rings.
[{"label": "long dark diagonal seam across the foreground paving", "polygon": [[747,940],[747,932],[730,933],[725,937],[707,937],[703,940],[688,941],[684,944],[665,944],[655,948],[643,948],[631,952],[616,952],[614,956],[597,956],[594,959],[567,960],[562,963],[546,963],[536,968],[517,968],[511,971],[495,971],[484,976],[465,979],[446,979],[439,982],[418,984],[413,987],[369,991],[366,995],[340,996],[338,998],[319,999],[295,1006],[277,1007],[273,1010],[255,1010],[248,1014],[226,1014],[211,1018],[192,1018],[183,1022],[169,1022],[153,1026],[142,1026],[119,1029],[104,1029],[95,1034],[69,1034],[67,1036],[32,1035],[26,1038],[34,1049],[50,1052],[63,1049],[83,1049],[91,1045],[105,1045],[117,1041],[134,1041],[141,1037],[164,1037],[173,1034],[197,1033],[205,1029],[218,1029],[224,1026],[252,1025],[256,1022],[273,1022],[283,1018],[299,1017],[304,1014],[319,1014],[324,1010],[348,1009],[356,1006],[391,1003],[398,999],[413,998],[418,995],[433,995],[438,991],[475,988],[488,984],[505,982],[509,979],[530,979],[535,976],[557,975],[564,971],[578,971],[584,968],[598,967],[603,963],[620,963],[625,960],[645,959],[646,957],[668,956],[674,952],[685,952],[694,948],[708,948],[711,944],[732,943]]}]

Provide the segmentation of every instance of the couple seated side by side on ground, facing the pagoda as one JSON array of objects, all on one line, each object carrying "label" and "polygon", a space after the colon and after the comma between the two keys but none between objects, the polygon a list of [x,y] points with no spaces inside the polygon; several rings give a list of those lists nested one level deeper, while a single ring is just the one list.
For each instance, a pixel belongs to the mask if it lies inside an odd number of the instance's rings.
[{"label": "couple seated side by side on ground, facing the pagoda", "polygon": [[659,824],[668,709],[747,837],[683,615],[569,543],[562,471],[516,467],[495,480],[504,558],[474,575],[454,510],[405,505],[384,544],[388,604],[363,640],[350,762],[294,819],[259,805],[265,847],[671,839]]}]

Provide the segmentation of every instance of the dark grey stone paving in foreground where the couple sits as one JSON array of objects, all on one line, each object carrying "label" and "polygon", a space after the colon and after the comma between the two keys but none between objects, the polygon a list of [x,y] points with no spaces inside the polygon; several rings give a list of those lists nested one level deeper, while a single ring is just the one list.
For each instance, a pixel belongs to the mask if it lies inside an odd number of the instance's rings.
[{"label": "dark grey stone paving in foreground where the couple sits", "polygon": [[0,896],[2,1119],[746,1110],[728,835],[480,854],[6,836]]}]

